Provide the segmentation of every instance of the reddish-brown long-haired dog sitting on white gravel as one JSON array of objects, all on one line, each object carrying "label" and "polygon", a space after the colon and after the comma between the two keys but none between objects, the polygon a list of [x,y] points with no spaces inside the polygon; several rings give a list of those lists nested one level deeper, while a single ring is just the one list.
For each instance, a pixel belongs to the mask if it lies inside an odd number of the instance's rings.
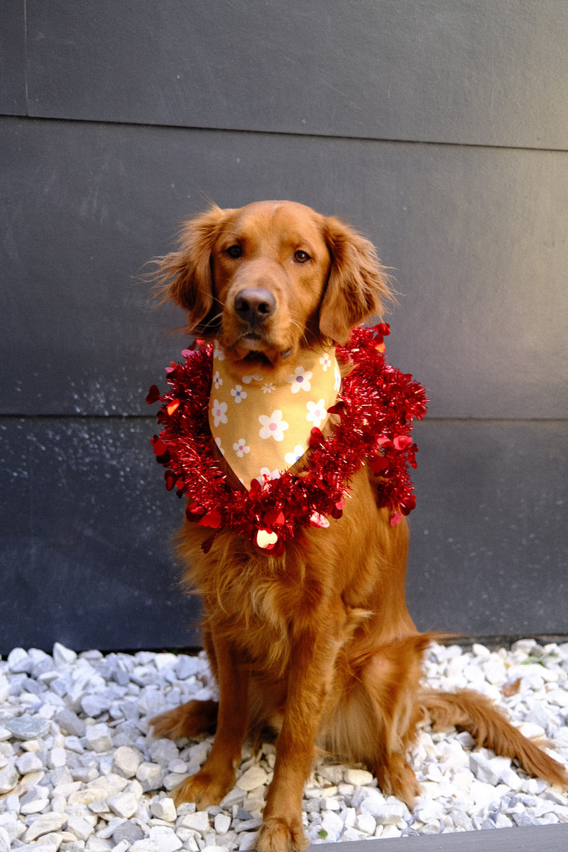
[{"label": "reddish-brown long-haired dog sitting on white gravel", "polygon": [[[179,250],[158,261],[158,286],[187,312],[188,332],[215,339],[229,375],[261,371],[275,384],[302,353],[344,345],[354,326],[381,316],[393,299],[369,240],[290,201],[211,206],[186,223]],[[242,489],[217,458],[230,486]],[[290,470],[301,476],[307,458]],[[202,769],[174,794],[198,809],[231,790],[251,730],[267,725],[278,733],[259,852],[304,849],[301,798],[317,750],[364,763],[383,792],[411,808],[419,787],[407,754],[425,716],[436,727],[469,731],[551,784],[568,781],[483,695],[422,687],[423,654],[436,636],[410,618],[408,527],[404,516],[392,522],[379,487],[361,465],[341,517],[308,526],[277,556],[232,530],[205,546],[211,531],[194,518],[179,534],[186,585],[204,601],[204,647],[219,701],[190,701],[155,717],[153,729],[171,739],[216,729]]]}]

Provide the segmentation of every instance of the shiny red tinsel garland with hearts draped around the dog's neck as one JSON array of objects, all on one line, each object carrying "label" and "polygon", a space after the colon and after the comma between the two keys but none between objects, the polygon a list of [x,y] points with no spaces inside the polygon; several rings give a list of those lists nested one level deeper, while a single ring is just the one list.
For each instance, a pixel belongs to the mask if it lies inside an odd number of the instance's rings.
[{"label": "shiny red tinsel garland with hearts draped around the dog's neck", "polygon": [[338,360],[353,364],[343,379],[340,395],[330,412],[340,415],[329,437],[312,430],[312,452],[307,472],[301,476],[285,471],[279,479],[250,491],[233,491],[213,455],[208,406],[212,376],[211,344],[185,350],[182,364],[166,368],[169,390],[160,395],[152,385],[148,404],[162,403],[152,446],[164,464],[169,490],[187,498],[186,516],[214,533],[204,545],[209,550],[215,534],[231,529],[279,556],[284,542],[301,533],[302,527],[327,527],[327,516],[341,517],[349,481],[366,461],[377,477],[381,505],[393,508],[391,523],[400,521],[399,510],[408,515],[416,505],[408,465],[416,468],[418,447],[410,433],[414,417],[426,413],[426,394],[410,374],[385,363],[383,337],[386,324],[358,327],[349,342],[337,347]]}]

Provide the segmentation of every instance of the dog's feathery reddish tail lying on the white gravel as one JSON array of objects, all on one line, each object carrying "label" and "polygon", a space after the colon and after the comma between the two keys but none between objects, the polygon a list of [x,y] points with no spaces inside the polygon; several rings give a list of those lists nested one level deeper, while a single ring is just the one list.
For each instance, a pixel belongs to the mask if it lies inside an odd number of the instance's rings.
[{"label": "dog's feathery reddish tail lying on the white gravel", "polygon": [[424,690],[419,700],[434,728],[468,731],[479,746],[486,746],[503,757],[516,758],[528,774],[549,784],[568,786],[568,773],[561,763],[514,728],[485,695],[470,689],[456,693]]}]

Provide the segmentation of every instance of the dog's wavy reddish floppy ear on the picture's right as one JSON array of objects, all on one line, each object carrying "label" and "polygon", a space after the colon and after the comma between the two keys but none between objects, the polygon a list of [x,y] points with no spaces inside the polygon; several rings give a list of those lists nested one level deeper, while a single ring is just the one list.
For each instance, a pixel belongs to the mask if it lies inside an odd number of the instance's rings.
[{"label": "dog's wavy reddish floppy ear on the picture's right", "polygon": [[393,300],[388,276],[376,250],[335,216],[324,219],[330,250],[330,277],[319,308],[319,331],[336,343],[347,343],[354,325],[380,317],[385,300]]}]

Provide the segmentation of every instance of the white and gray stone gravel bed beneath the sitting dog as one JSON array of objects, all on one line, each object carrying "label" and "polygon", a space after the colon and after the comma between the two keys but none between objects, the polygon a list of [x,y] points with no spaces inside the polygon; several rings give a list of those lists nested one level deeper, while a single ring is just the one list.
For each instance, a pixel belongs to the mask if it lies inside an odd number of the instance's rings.
[{"label": "white and gray stone gravel bed beneath the sitting dog", "polygon": [[[433,645],[428,681],[473,687],[568,764],[568,643],[533,639],[491,651]],[[237,786],[215,808],[175,808],[171,791],[204,762],[211,738],[152,738],[147,720],[215,695],[207,660],[173,653],[14,648],[0,661],[0,852],[204,852],[254,849],[275,759],[244,746]],[[568,822],[568,796],[468,734],[422,728],[412,763],[422,797],[410,812],[366,769],[319,763],[304,792],[312,843]]]}]

